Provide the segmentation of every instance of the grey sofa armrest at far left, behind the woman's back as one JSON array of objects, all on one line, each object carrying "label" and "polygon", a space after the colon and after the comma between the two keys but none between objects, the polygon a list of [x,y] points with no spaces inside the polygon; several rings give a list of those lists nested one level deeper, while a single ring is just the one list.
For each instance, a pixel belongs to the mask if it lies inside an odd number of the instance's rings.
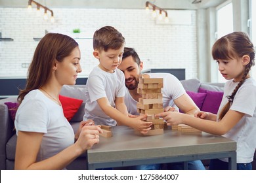
[{"label": "grey sofa armrest at far left, behind the woman's back", "polygon": [[14,135],[14,123],[11,121],[6,102],[17,102],[16,97],[0,100],[0,169],[6,169],[6,144]]}]

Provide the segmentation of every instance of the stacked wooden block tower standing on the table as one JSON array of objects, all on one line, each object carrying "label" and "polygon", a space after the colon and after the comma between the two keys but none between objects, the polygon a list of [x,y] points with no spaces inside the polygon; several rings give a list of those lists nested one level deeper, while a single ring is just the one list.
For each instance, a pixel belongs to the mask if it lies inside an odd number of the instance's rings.
[{"label": "stacked wooden block tower standing on the table", "polygon": [[154,114],[163,112],[163,78],[150,78],[149,75],[142,75],[139,79],[138,93],[142,94],[137,103],[137,111],[140,114],[148,114],[147,122],[153,122],[152,129],[146,135],[163,134],[165,122],[156,118]]}]

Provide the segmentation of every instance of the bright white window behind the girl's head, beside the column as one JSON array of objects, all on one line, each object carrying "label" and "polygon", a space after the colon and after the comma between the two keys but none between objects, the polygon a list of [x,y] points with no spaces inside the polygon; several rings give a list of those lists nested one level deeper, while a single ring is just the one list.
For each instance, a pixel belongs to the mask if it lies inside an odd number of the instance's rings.
[{"label": "bright white window behind the girl's head, beside the column", "polygon": [[[233,32],[233,7],[231,1],[219,5],[217,10],[217,33],[216,39]],[[225,78],[218,72],[218,81],[226,82]]]}]

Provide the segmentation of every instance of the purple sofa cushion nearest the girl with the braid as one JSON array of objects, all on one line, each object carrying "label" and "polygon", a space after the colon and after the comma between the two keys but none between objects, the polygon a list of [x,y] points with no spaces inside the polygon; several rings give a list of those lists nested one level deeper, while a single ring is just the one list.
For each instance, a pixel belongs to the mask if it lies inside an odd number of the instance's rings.
[{"label": "purple sofa cushion nearest the girl with the braid", "polygon": [[221,100],[223,99],[223,92],[209,91],[202,88],[200,88],[198,92],[207,94],[201,110],[217,114],[219,106],[221,105]]}]

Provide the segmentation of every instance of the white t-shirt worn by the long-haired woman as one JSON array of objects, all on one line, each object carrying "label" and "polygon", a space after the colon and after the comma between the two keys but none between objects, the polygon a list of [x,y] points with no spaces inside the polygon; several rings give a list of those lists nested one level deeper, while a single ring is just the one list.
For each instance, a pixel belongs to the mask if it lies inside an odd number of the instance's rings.
[{"label": "white t-shirt worn by the long-haired woman", "polygon": [[44,133],[37,161],[50,158],[74,144],[74,131],[62,107],[40,90],[32,90],[24,97],[14,125],[17,135],[18,131]]}]

